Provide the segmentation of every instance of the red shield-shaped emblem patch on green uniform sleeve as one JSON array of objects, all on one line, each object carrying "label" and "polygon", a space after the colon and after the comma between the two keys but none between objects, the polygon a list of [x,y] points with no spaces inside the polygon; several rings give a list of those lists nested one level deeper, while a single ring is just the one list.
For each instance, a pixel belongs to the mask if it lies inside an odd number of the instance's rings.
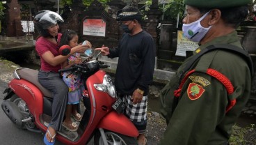
[{"label": "red shield-shaped emblem patch on green uniform sleeve", "polygon": [[187,89],[188,96],[191,100],[196,100],[202,96],[202,93],[205,92],[205,89],[202,89],[202,86],[195,83],[190,83]]}]

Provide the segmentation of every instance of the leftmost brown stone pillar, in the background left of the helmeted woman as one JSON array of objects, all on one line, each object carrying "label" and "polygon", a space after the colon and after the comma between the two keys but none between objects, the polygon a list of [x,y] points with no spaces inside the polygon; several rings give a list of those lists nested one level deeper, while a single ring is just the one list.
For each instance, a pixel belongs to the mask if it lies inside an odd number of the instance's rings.
[{"label": "leftmost brown stone pillar, in the background left of the helmeted woman", "polygon": [[11,0],[7,3],[8,11],[6,14],[7,20],[7,29],[6,36],[15,37],[15,36],[24,36],[22,31],[22,24],[20,22],[20,6],[17,0]]}]

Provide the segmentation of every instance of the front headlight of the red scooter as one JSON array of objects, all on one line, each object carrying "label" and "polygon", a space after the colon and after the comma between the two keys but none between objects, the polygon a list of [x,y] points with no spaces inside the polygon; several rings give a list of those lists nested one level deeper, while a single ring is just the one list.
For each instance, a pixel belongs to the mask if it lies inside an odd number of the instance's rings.
[{"label": "front headlight of the red scooter", "polygon": [[104,75],[102,84],[94,84],[94,87],[97,89],[97,91],[109,93],[112,98],[116,97],[115,86],[109,75]]}]

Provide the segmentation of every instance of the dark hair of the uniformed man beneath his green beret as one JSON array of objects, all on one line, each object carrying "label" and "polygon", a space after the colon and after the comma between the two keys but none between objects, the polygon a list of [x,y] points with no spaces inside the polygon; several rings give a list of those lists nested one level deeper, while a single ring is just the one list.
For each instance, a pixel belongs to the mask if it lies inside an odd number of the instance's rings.
[{"label": "dark hair of the uniformed man beneath his green beret", "polygon": [[[198,8],[198,10],[200,10],[200,13],[202,14],[209,12],[209,10],[211,9]],[[248,15],[248,6],[238,6],[223,9],[219,8],[219,10],[221,10],[221,18],[223,19],[223,21],[226,24],[229,24],[230,26],[234,27],[234,29],[237,29],[240,23],[243,22]]]}]

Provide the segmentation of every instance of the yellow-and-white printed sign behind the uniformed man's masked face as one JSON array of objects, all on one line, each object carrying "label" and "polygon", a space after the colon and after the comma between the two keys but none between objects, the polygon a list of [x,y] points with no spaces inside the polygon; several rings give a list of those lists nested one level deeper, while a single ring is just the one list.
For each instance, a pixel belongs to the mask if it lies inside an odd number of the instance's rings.
[{"label": "yellow-and-white printed sign behind the uniformed man's masked face", "polygon": [[195,43],[183,36],[182,31],[177,31],[177,56],[186,56],[186,51],[194,51],[198,48],[198,43]]}]

